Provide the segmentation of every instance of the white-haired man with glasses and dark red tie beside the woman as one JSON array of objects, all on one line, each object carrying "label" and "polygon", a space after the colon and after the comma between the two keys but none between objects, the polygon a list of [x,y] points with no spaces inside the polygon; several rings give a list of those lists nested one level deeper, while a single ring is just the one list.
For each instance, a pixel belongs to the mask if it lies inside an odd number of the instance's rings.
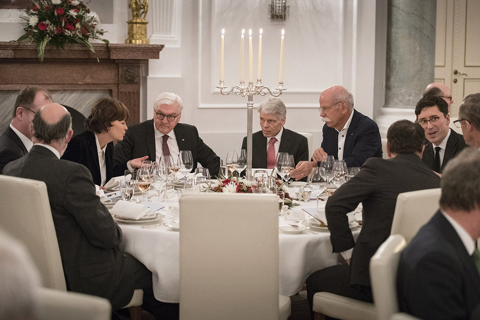
[{"label": "white-haired man with glasses and dark red tie beside the woman", "polygon": [[191,125],[179,123],[182,115],[182,99],[174,93],[161,93],[154,103],[153,120],[131,126],[122,141],[115,145],[113,163],[149,156],[159,161],[163,155],[177,159],[180,150],[190,150],[195,171],[199,162],[208,168],[210,175],[220,171],[220,158],[198,136],[198,130]]}]

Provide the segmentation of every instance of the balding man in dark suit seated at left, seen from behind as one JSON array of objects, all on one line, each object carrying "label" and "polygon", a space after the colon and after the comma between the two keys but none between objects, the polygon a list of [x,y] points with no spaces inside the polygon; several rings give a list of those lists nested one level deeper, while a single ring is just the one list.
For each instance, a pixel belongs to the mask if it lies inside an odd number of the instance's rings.
[{"label": "balding man in dark suit seated at left, seen from behind", "polygon": [[119,250],[122,232],[96,196],[88,169],[60,160],[73,134],[68,111],[57,103],[46,104],[32,123],[32,150],[8,163],[4,174],[47,185],[67,289],[107,298],[116,310],[127,305],[134,289],[141,288],[145,310],[157,319],[178,318],[178,304],[155,300],[152,273]]}]

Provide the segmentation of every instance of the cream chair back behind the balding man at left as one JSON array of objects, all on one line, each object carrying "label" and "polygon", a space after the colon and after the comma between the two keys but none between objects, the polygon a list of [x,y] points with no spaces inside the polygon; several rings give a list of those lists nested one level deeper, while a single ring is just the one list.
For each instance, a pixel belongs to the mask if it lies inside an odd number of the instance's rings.
[{"label": "cream chair back behind the balding man at left", "polygon": [[66,290],[47,186],[43,181],[0,175],[0,228],[21,242],[44,287]]}]

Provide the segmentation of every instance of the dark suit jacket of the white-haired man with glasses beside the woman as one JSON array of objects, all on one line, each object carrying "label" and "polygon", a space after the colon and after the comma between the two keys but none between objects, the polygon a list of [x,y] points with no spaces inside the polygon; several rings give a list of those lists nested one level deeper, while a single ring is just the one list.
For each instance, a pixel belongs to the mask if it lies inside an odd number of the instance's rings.
[{"label": "dark suit jacket of the white-haired man with glasses beside the woman", "polygon": [[[198,130],[194,126],[178,123],[173,131],[179,150],[190,150],[192,152],[192,172],[195,171],[197,162],[200,162],[204,168],[208,168],[211,176],[218,175],[220,158],[198,136]],[[115,145],[113,163],[117,165],[143,156],[148,156],[152,161],[156,159],[153,120],[147,120],[128,128],[124,139]]]}]

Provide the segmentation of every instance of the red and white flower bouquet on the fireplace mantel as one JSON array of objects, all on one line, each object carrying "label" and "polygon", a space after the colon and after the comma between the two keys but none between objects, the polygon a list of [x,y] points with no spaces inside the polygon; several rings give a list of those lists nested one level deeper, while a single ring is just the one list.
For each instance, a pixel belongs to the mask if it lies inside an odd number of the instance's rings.
[{"label": "red and white flower bouquet on the fireplace mantel", "polygon": [[[38,59],[43,61],[47,43],[57,49],[66,43],[81,43],[95,52],[90,39],[102,39],[102,29],[97,29],[100,19],[91,13],[82,0],[32,0],[32,9],[24,10],[22,18],[28,22],[24,30],[27,32],[17,41],[29,40],[36,43]],[[98,60],[98,59],[97,59]]]}]

